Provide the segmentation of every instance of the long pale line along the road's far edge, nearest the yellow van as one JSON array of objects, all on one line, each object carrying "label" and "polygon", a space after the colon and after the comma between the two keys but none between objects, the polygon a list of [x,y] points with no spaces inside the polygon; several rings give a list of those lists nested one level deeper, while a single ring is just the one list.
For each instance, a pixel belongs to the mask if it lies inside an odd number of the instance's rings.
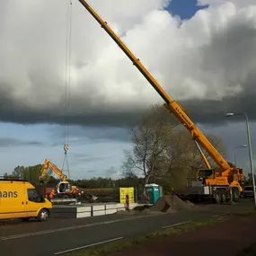
[{"label": "long pale line along the road's far edge, nearest the yellow van", "polygon": [[80,228],[86,228],[86,227],[91,227],[91,226],[96,226],[96,225],[108,225],[108,224],[111,224],[111,223],[117,223],[117,222],[133,220],[133,219],[137,219],[137,218],[145,218],[145,217],[154,217],[154,216],[132,216],[132,217],[127,217],[127,218],[120,218],[120,219],[103,221],[103,222],[98,222],[98,223],[85,224],[85,225],[73,225],[73,226],[67,226],[67,227],[60,227],[60,228],[56,228],[56,229],[49,229],[49,230],[33,232],[33,233],[14,234],[14,235],[0,237],[0,241],[13,240],[13,239],[18,239],[18,238],[28,237],[28,236],[35,236],[35,235],[40,235],[40,234],[51,234],[51,233],[63,232],[63,231],[68,231],[68,230],[80,229]]}]

